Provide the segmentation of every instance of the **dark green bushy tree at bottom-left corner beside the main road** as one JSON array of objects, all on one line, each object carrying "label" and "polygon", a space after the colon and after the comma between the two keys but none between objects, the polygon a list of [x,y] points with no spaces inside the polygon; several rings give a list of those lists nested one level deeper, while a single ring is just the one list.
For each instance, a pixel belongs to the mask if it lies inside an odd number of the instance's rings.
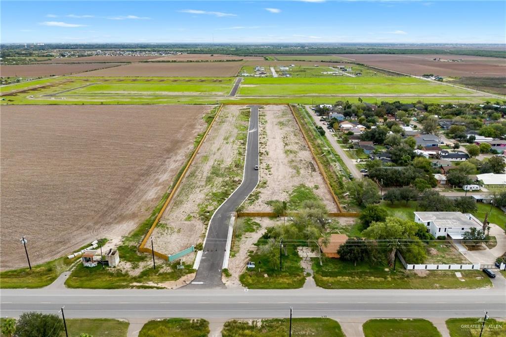
[{"label": "dark green bushy tree at bottom-left corner beside the main road", "polygon": [[16,337],[60,337],[63,320],[54,314],[27,312],[16,324]]}]

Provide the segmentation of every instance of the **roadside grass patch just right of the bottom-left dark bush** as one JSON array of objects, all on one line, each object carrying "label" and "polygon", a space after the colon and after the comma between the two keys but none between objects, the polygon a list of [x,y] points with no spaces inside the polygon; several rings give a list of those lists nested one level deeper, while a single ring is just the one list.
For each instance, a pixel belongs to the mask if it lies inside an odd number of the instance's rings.
[{"label": "roadside grass patch just right of the bottom-left dark bush", "polygon": [[[126,337],[129,322],[117,319],[67,319],[69,337],[79,337],[81,333],[88,333],[94,337]],[[62,333],[62,337],[65,332]]]}]

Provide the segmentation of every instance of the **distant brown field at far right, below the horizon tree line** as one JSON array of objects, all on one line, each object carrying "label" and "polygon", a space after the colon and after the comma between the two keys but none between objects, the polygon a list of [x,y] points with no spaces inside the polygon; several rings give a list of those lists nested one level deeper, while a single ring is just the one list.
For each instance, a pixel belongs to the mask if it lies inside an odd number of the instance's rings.
[{"label": "distant brown field at far right, below the horizon tree line", "polygon": [[[504,77],[506,59],[465,55],[336,55],[379,68],[390,69],[416,76],[435,74],[451,77]],[[440,59],[434,61],[434,58]],[[462,60],[451,62],[449,60]]]}]

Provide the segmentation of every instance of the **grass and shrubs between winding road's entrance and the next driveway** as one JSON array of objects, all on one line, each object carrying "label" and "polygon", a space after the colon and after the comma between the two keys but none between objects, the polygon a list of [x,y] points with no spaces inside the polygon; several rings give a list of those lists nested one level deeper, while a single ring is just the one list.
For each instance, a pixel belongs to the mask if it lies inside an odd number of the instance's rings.
[{"label": "grass and shrubs between winding road's entrance and the next driveway", "polygon": [[[301,257],[297,248],[287,246],[287,255],[283,254],[283,270],[279,271],[279,255],[272,257],[260,253],[261,248],[251,253],[250,261],[255,262],[255,269],[248,269],[239,277],[243,286],[251,289],[296,289],[306,281]],[[266,277],[267,275],[267,277]]]}]

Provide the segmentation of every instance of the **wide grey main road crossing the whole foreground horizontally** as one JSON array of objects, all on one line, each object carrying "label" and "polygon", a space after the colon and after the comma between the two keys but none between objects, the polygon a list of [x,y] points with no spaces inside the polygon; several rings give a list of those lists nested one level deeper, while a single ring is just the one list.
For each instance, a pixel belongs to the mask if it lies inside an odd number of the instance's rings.
[{"label": "wide grey main road crossing the whole foreground horizontally", "polygon": [[[506,317],[504,279],[489,289],[463,290],[91,290],[3,289],[2,317],[22,312],[81,318]],[[90,280],[93,282],[93,280]]]}]

